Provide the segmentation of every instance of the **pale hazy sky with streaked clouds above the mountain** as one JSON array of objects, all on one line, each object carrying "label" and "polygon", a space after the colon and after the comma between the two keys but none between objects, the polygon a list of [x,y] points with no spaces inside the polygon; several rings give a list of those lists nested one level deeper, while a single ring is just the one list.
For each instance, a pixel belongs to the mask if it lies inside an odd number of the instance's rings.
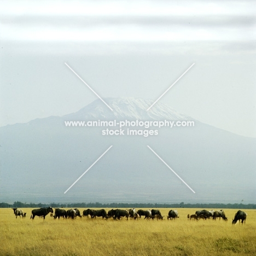
[{"label": "pale hazy sky with streaked clouds above the mountain", "polygon": [[156,100],[256,137],[255,1],[1,1],[0,125],[96,96]]}]

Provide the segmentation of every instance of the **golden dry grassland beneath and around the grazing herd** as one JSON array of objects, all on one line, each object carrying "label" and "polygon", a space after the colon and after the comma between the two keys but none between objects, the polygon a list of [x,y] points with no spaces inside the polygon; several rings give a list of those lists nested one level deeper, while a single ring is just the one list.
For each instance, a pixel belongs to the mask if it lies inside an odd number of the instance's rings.
[{"label": "golden dry grassland beneath and around the grazing herd", "polygon": [[256,255],[256,210],[244,210],[248,216],[243,225],[231,224],[234,209],[224,210],[228,222],[188,220],[188,213],[199,210],[193,208],[178,209],[176,220],[166,219],[168,208],[160,209],[164,220],[57,220],[50,214],[31,220],[32,209],[22,210],[27,217],[15,219],[11,208],[0,208],[1,256]]}]

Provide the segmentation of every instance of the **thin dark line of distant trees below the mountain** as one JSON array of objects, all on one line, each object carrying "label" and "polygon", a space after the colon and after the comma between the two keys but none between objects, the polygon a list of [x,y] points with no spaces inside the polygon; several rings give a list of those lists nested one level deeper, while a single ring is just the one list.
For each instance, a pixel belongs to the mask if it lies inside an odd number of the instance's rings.
[{"label": "thin dark line of distant trees below the mountain", "polygon": [[256,209],[256,204],[249,203],[23,203],[16,201],[13,205],[9,203],[0,203],[0,208],[212,208],[212,209]]}]

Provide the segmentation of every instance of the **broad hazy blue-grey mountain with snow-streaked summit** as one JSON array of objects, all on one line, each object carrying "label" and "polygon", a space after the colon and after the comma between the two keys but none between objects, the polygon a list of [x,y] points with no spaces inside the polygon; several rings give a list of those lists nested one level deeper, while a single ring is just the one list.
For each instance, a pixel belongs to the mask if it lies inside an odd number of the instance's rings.
[{"label": "broad hazy blue-grey mountain with snow-streaked summit", "polygon": [[[256,139],[152,100],[106,98],[76,113],[0,128],[0,201],[255,203]],[[65,121],[184,121],[193,127],[66,126]],[[156,123],[155,123],[156,124]],[[142,135],[127,135],[127,130]],[[157,130],[156,135],[143,135]],[[109,151],[64,192],[110,147]],[[195,194],[147,147],[150,146]]]}]

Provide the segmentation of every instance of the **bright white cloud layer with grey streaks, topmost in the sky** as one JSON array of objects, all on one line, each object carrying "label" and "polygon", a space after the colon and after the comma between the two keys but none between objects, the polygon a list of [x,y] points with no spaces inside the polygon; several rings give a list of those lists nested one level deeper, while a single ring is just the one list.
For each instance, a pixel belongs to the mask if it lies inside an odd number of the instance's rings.
[{"label": "bright white cloud layer with grey streaks, topmost in the sky", "polygon": [[252,40],[250,1],[8,1],[2,40],[137,41]]}]

